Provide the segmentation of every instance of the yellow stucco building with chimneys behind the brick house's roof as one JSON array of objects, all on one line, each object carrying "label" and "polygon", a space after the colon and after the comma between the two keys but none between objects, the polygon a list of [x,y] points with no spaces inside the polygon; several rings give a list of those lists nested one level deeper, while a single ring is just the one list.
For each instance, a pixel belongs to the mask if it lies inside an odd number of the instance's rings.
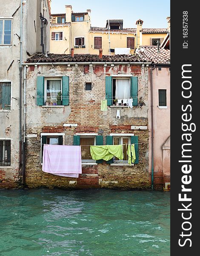
[{"label": "yellow stucco building with chimneys behind the brick house's roof", "polygon": [[50,52],[69,54],[104,55],[134,53],[139,46],[162,44],[168,29],[143,29],[143,20],[136,21],[136,28],[123,28],[123,20],[107,20],[106,27],[91,26],[91,10],[74,13],[71,5],[66,5],[63,14],[51,15]]}]

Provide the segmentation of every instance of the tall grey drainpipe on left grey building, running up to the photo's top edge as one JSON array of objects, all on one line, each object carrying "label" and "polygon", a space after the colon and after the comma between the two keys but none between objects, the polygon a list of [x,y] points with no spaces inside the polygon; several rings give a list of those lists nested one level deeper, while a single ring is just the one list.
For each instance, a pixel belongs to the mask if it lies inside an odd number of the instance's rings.
[{"label": "tall grey drainpipe on left grey building, running up to the photo's top edge", "polygon": [[20,155],[19,155],[19,169],[22,167],[22,14],[23,14],[23,3],[21,0],[21,17],[20,17],[20,102],[19,102],[19,107],[20,107],[20,115],[19,115],[19,146],[20,146]]}]

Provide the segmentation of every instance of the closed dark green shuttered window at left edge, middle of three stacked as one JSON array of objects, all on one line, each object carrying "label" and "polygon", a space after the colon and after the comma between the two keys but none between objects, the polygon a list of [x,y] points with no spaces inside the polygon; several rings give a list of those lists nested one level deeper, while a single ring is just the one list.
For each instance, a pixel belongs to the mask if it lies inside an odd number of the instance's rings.
[{"label": "closed dark green shuttered window at left edge, middle of three stacked", "polygon": [[0,82],[0,109],[11,109],[11,82]]}]

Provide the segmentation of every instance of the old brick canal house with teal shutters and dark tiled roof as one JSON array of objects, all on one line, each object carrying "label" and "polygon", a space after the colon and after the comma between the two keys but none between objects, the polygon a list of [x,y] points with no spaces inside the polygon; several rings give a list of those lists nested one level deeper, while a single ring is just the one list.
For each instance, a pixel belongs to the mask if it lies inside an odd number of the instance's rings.
[{"label": "old brick canal house with teal shutters and dark tiled roof", "polygon": [[[72,56],[37,54],[29,58],[24,63],[26,185],[149,188],[149,64],[148,59],[134,55],[73,55],[73,50]],[[116,84],[119,88],[123,81],[128,84],[133,108],[123,102],[116,105]],[[108,107],[101,111],[105,99]],[[138,100],[143,102],[140,107]],[[42,171],[43,144],[51,143],[81,145],[82,175],[70,178]],[[137,152],[131,166],[126,156],[123,161],[96,162],[89,154],[89,145],[123,144],[126,152],[130,143],[135,143]]]}]

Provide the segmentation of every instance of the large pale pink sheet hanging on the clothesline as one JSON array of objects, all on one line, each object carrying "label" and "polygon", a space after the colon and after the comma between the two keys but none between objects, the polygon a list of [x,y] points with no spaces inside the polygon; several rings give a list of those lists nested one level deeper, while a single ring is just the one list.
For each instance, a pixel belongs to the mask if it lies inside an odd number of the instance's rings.
[{"label": "large pale pink sheet hanging on the clothesline", "polygon": [[42,170],[59,176],[78,177],[82,173],[80,146],[44,144]]}]

